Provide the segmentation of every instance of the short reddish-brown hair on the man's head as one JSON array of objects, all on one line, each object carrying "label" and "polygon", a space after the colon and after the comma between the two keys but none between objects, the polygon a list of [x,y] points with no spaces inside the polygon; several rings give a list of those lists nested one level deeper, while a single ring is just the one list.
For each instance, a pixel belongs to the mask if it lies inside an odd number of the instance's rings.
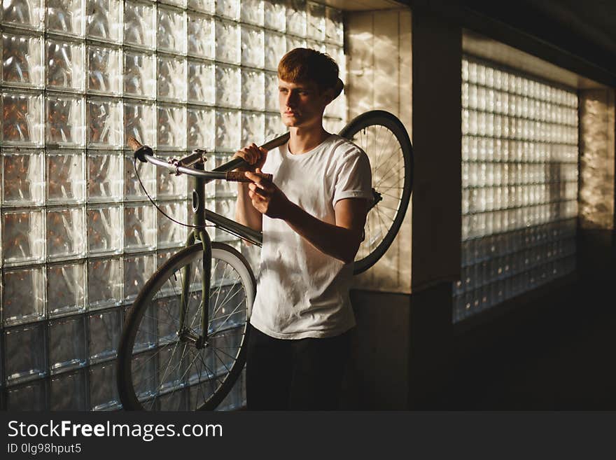
[{"label": "short reddish-brown hair on the man's head", "polygon": [[338,64],[330,55],[310,48],[295,48],[278,64],[278,78],[290,83],[314,82],[319,91],[335,89],[335,97],[344,85],[338,78]]}]

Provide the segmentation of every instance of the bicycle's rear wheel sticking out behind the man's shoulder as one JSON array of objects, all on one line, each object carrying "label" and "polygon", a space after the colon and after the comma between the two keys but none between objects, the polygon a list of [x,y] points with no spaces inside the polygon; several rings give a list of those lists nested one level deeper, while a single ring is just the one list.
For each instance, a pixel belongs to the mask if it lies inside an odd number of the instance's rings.
[{"label": "bicycle's rear wheel sticking out behind the man's shoulder", "polygon": [[413,147],[400,120],[382,110],[353,118],[339,134],[367,153],[372,169],[374,202],[355,257],[358,274],[377,263],[400,230],[413,188]]}]

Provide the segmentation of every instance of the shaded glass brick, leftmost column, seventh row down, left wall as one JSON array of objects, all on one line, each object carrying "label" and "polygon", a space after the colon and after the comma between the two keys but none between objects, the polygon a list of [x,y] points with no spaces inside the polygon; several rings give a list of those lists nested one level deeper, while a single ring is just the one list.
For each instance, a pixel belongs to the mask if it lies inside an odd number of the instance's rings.
[{"label": "shaded glass brick, leftmost column, seventh row down, left wall", "polygon": [[43,323],[5,330],[4,353],[7,384],[45,377],[47,350]]}]

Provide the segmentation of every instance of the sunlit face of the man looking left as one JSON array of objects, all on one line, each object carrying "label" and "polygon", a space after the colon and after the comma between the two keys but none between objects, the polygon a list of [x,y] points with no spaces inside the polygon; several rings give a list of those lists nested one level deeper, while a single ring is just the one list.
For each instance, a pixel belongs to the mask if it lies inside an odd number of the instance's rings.
[{"label": "sunlit face of the man looking left", "polygon": [[316,83],[290,83],[278,79],[278,99],[282,123],[287,127],[321,125],[323,111],[330,102],[327,92]]}]

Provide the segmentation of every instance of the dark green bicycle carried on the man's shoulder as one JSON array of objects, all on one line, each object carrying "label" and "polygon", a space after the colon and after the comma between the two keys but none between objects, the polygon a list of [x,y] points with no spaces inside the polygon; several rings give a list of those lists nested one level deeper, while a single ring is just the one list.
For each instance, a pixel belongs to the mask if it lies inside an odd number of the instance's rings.
[{"label": "dark green bicycle carried on the man's shoulder", "polygon": [[[340,135],[363,148],[372,168],[374,200],[356,257],[357,274],[379,260],[402,225],[412,192],[412,144],[400,120],[385,111],[363,113]],[[288,137],[262,147],[270,150]],[[193,225],[188,225],[193,230],[186,247],[148,279],[127,316],[118,347],[120,401],[126,410],[214,410],[244,368],[256,283],[241,253],[211,242],[206,221],[258,246],[262,235],[205,209],[204,190],[212,180],[248,181],[244,172],[233,171],[246,163],[235,158],[206,171],[203,150],[165,161],[134,139],[129,144],[136,169],[139,160],[193,176]]]}]

